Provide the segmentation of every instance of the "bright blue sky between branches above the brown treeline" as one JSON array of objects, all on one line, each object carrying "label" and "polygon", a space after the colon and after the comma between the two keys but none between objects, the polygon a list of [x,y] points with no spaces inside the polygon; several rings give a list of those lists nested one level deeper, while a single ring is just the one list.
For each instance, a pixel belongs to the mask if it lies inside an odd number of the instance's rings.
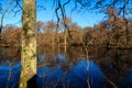
[{"label": "bright blue sky between branches above the brown treeline", "polygon": [[[7,4],[10,0],[3,0],[2,3]],[[65,1],[65,0],[64,0]],[[73,0],[72,0],[73,1]],[[37,21],[56,21],[55,15],[55,8],[53,7],[53,0],[36,0],[38,6],[43,6],[45,10],[42,10],[38,8],[37,10]],[[4,8],[6,6],[3,6]],[[13,7],[13,6],[12,6]],[[74,8],[73,2],[66,6],[66,14],[68,18],[72,18],[73,22],[77,23],[79,26],[94,26],[98,22],[102,21],[105,19],[105,15],[102,13],[91,13],[89,11],[78,12],[78,11],[72,11]],[[0,14],[1,16],[1,14]],[[14,24],[18,26],[21,26],[21,12],[19,12],[15,16],[13,12],[8,12],[3,20],[3,25],[6,24]]]}]

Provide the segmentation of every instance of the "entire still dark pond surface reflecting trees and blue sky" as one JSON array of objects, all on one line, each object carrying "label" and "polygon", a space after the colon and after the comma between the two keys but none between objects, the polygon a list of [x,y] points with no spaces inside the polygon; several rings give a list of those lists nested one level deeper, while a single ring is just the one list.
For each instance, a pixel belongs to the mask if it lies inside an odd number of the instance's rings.
[{"label": "entire still dark pond surface reflecting trees and blue sky", "polygon": [[[16,88],[20,50],[1,48],[0,88]],[[132,51],[40,47],[37,74],[29,88],[132,88]]]}]

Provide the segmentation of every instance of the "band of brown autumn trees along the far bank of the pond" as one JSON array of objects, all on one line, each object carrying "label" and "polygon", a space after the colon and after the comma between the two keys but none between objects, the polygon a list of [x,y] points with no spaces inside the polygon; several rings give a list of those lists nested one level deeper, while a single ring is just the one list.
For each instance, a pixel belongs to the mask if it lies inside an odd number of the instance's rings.
[{"label": "band of brown autumn trees along the far bank of the pond", "polygon": [[[103,45],[109,47],[125,47],[127,33],[125,21],[116,15],[116,10],[108,10],[109,18],[96,24],[95,26],[80,28],[67,19],[66,23],[70,31],[72,38],[67,31],[64,30],[63,21],[57,28],[55,22],[36,22],[37,29],[37,46],[40,45],[63,45],[65,40],[67,45]],[[132,20],[128,20],[129,29],[129,47],[132,47]],[[66,32],[66,33],[65,33]],[[65,37],[66,34],[66,37]],[[18,46],[21,45],[21,28],[8,26],[2,31],[2,41],[7,45]]]}]

